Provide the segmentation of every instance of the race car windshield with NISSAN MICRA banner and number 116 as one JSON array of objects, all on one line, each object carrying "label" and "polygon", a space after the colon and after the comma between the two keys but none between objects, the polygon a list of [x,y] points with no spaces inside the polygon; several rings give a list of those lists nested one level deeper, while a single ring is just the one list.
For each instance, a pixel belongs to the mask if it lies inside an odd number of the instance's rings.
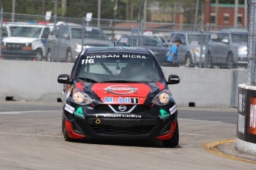
[{"label": "race car windshield with NISSAN MICRA banner and number 116", "polygon": [[77,81],[157,82],[163,80],[155,58],[143,54],[83,55],[76,72]]}]

